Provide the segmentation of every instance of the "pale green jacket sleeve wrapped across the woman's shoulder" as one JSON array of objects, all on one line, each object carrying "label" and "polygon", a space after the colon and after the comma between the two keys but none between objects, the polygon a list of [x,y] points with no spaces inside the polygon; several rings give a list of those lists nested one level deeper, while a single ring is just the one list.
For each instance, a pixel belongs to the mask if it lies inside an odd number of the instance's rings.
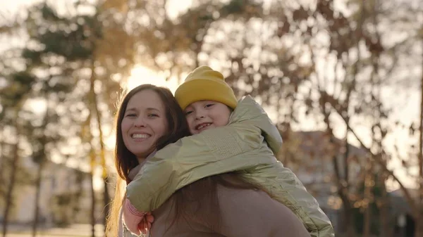
[{"label": "pale green jacket sleeve wrapped across the woman's shoulder", "polygon": [[137,210],[149,212],[194,181],[262,164],[257,157],[239,155],[257,150],[265,142],[260,134],[257,127],[231,124],[180,139],[147,160],[128,184],[127,198]]}]

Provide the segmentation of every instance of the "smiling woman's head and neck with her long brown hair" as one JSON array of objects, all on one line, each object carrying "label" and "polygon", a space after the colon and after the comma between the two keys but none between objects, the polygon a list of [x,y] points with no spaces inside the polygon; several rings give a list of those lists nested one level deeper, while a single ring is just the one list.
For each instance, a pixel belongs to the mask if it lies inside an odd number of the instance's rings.
[{"label": "smiling woman's head and neck with her long brown hair", "polygon": [[171,91],[150,84],[136,87],[123,97],[115,126],[118,177],[107,222],[108,236],[122,236],[120,210],[123,190],[131,176],[154,150],[188,136],[188,125]]}]

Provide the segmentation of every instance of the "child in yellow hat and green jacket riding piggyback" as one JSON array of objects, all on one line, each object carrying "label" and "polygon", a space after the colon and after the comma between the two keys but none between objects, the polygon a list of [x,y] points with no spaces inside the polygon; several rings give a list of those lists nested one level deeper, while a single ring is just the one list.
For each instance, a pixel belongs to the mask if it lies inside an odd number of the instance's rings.
[{"label": "child in yellow hat and green jacket riding piggyback", "polygon": [[281,136],[250,96],[238,103],[223,75],[202,66],[188,75],[175,97],[193,135],[157,151],[128,184],[123,215],[130,231],[139,233],[143,212],[157,209],[179,188],[204,177],[241,171],[245,181],[290,208],[311,236],[334,236],[317,201],[276,160]]}]

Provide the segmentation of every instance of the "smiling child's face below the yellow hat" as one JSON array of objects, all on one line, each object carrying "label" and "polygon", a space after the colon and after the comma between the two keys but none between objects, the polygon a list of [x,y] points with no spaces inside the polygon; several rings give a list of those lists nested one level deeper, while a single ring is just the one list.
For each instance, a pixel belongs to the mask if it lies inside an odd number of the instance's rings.
[{"label": "smiling child's face below the yellow hat", "polygon": [[222,127],[228,124],[231,110],[227,105],[216,101],[197,101],[184,110],[191,134]]}]

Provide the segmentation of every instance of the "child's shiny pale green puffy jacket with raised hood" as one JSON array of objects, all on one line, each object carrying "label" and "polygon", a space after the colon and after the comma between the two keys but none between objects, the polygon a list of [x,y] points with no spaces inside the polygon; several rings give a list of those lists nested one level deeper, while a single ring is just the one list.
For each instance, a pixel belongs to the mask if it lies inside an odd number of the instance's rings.
[{"label": "child's shiny pale green puffy jacket with raised hood", "polygon": [[[329,218],[288,168],[276,160],[282,139],[262,107],[241,99],[224,127],[188,136],[157,151],[126,191],[137,210],[157,209],[179,188],[215,174],[240,176],[290,208],[313,237],[334,236]],[[269,148],[270,147],[270,148]]]}]

